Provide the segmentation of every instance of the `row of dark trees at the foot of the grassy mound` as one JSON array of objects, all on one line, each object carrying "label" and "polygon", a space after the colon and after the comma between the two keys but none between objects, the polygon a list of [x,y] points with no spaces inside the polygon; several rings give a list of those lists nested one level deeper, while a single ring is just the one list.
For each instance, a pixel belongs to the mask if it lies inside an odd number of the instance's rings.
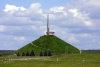
[{"label": "row of dark trees at the foot of the grassy mound", "polygon": [[[35,56],[34,51],[32,50],[31,52],[22,52],[22,54],[20,54],[19,52],[17,53],[17,56]],[[40,52],[40,56],[52,56],[50,51],[45,51],[45,52]]]}]

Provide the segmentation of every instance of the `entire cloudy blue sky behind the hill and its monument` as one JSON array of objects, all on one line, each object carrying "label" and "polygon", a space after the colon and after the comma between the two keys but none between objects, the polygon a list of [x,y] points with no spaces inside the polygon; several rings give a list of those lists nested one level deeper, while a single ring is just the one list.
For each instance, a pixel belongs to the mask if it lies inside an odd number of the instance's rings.
[{"label": "entire cloudy blue sky behind the hill and its monument", "polygon": [[17,50],[50,31],[81,50],[100,49],[100,0],[0,0],[0,50]]}]

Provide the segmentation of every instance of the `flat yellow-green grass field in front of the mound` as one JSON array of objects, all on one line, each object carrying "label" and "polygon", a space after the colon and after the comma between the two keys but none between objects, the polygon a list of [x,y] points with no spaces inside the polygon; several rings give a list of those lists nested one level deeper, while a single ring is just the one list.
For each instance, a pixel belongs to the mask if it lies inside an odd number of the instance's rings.
[{"label": "flat yellow-green grass field in front of the mound", "polygon": [[100,67],[100,54],[52,57],[1,56],[0,67]]}]

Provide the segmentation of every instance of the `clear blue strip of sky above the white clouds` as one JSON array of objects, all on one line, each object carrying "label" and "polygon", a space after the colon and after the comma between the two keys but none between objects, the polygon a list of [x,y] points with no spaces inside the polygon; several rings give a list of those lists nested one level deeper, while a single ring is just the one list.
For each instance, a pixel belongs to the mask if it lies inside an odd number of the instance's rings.
[{"label": "clear blue strip of sky above the white clouds", "polygon": [[24,6],[26,8],[29,7],[32,3],[41,3],[42,8],[50,8],[53,6],[64,5],[64,3],[71,0],[0,0],[0,9],[3,9],[5,4],[12,4],[16,6]]}]

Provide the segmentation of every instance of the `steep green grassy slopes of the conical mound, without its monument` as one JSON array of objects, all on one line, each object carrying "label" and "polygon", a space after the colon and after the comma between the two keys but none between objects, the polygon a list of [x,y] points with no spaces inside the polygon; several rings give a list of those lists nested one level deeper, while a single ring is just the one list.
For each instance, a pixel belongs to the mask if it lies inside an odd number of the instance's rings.
[{"label": "steep green grassy slopes of the conical mound, without its monument", "polygon": [[50,52],[52,55],[61,55],[61,54],[73,54],[79,53],[80,51],[72,46],[71,44],[66,43],[65,41],[59,39],[54,35],[41,36],[35,41],[27,44],[26,46],[18,49],[16,52],[22,54],[23,52],[34,51],[35,55],[39,56],[40,52]]}]

